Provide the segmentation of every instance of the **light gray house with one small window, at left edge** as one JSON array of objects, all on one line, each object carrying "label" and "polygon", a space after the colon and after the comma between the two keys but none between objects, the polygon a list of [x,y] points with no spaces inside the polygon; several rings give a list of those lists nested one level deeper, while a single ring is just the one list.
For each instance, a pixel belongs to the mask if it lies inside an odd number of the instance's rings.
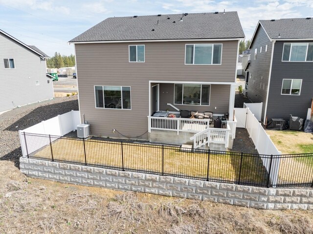
[{"label": "light gray house with one small window, at left edge", "polygon": [[46,58],[36,46],[0,30],[0,112],[54,97]]}]

